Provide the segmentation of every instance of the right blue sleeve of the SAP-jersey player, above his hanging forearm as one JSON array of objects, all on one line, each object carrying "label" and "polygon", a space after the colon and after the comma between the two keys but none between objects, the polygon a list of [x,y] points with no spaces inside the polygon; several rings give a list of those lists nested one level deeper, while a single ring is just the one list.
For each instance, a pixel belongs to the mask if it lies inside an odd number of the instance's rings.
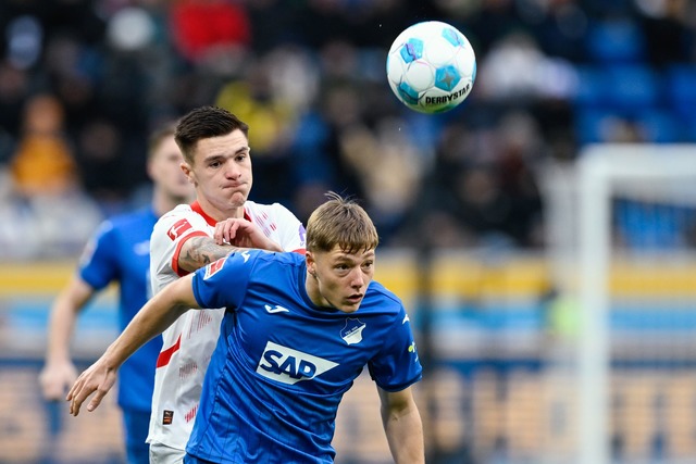
[{"label": "right blue sleeve of the SAP-jersey player, above his hanging forearm", "polygon": [[386,391],[403,390],[422,378],[423,367],[403,306],[389,330],[388,342],[368,363],[368,368],[372,379]]}]

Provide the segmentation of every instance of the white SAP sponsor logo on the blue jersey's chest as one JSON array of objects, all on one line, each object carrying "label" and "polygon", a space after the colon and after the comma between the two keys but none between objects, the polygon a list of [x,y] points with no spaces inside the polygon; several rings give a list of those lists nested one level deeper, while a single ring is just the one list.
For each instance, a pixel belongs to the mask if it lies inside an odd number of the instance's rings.
[{"label": "white SAP sponsor logo on the blue jersey's chest", "polygon": [[294,385],[300,380],[311,380],[337,365],[332,361],[269,341],[257,373],[282,384]]}]

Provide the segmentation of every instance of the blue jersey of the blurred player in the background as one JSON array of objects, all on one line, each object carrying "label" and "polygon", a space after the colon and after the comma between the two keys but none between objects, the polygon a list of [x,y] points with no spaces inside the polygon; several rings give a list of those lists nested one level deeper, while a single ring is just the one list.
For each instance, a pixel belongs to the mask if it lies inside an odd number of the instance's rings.
[{"label": "blue jersey of the blurred player in the background", "polygon": [[[96,290],[119,283],[121,330],[148,301],[150,292],[150,235],[157,222],[151,208],[104,221],[86,248],[79,276]],[[149,412],[152,407],[154,365],[162,337],[150,340],[119,371],[119,404]]]}]

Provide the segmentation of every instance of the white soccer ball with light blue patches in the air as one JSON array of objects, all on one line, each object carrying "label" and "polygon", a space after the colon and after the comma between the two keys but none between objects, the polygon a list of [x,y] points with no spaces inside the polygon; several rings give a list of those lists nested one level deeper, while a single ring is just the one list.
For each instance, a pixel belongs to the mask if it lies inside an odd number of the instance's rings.
[{"label": "white soccer ball with light blue patches in the air", "polygon": [[387,79],[411,110],[444,113],[464,101],[476,78],[476,55],[467,37],[447,23],[413,24],[394,40]]}]

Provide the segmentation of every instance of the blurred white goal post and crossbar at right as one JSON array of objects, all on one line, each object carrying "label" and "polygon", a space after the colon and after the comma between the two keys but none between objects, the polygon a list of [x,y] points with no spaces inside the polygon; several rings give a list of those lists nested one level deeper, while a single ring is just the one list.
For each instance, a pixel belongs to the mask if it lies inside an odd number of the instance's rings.
[{"label": "blurred white goal post and crossbar at right", "polygon": [[551,268],[579,309],[575,462],[610,464],[612,200],[645,193],[696,208],[696,146],[587,146],[573,166],[547,170],[545,184]]}]

